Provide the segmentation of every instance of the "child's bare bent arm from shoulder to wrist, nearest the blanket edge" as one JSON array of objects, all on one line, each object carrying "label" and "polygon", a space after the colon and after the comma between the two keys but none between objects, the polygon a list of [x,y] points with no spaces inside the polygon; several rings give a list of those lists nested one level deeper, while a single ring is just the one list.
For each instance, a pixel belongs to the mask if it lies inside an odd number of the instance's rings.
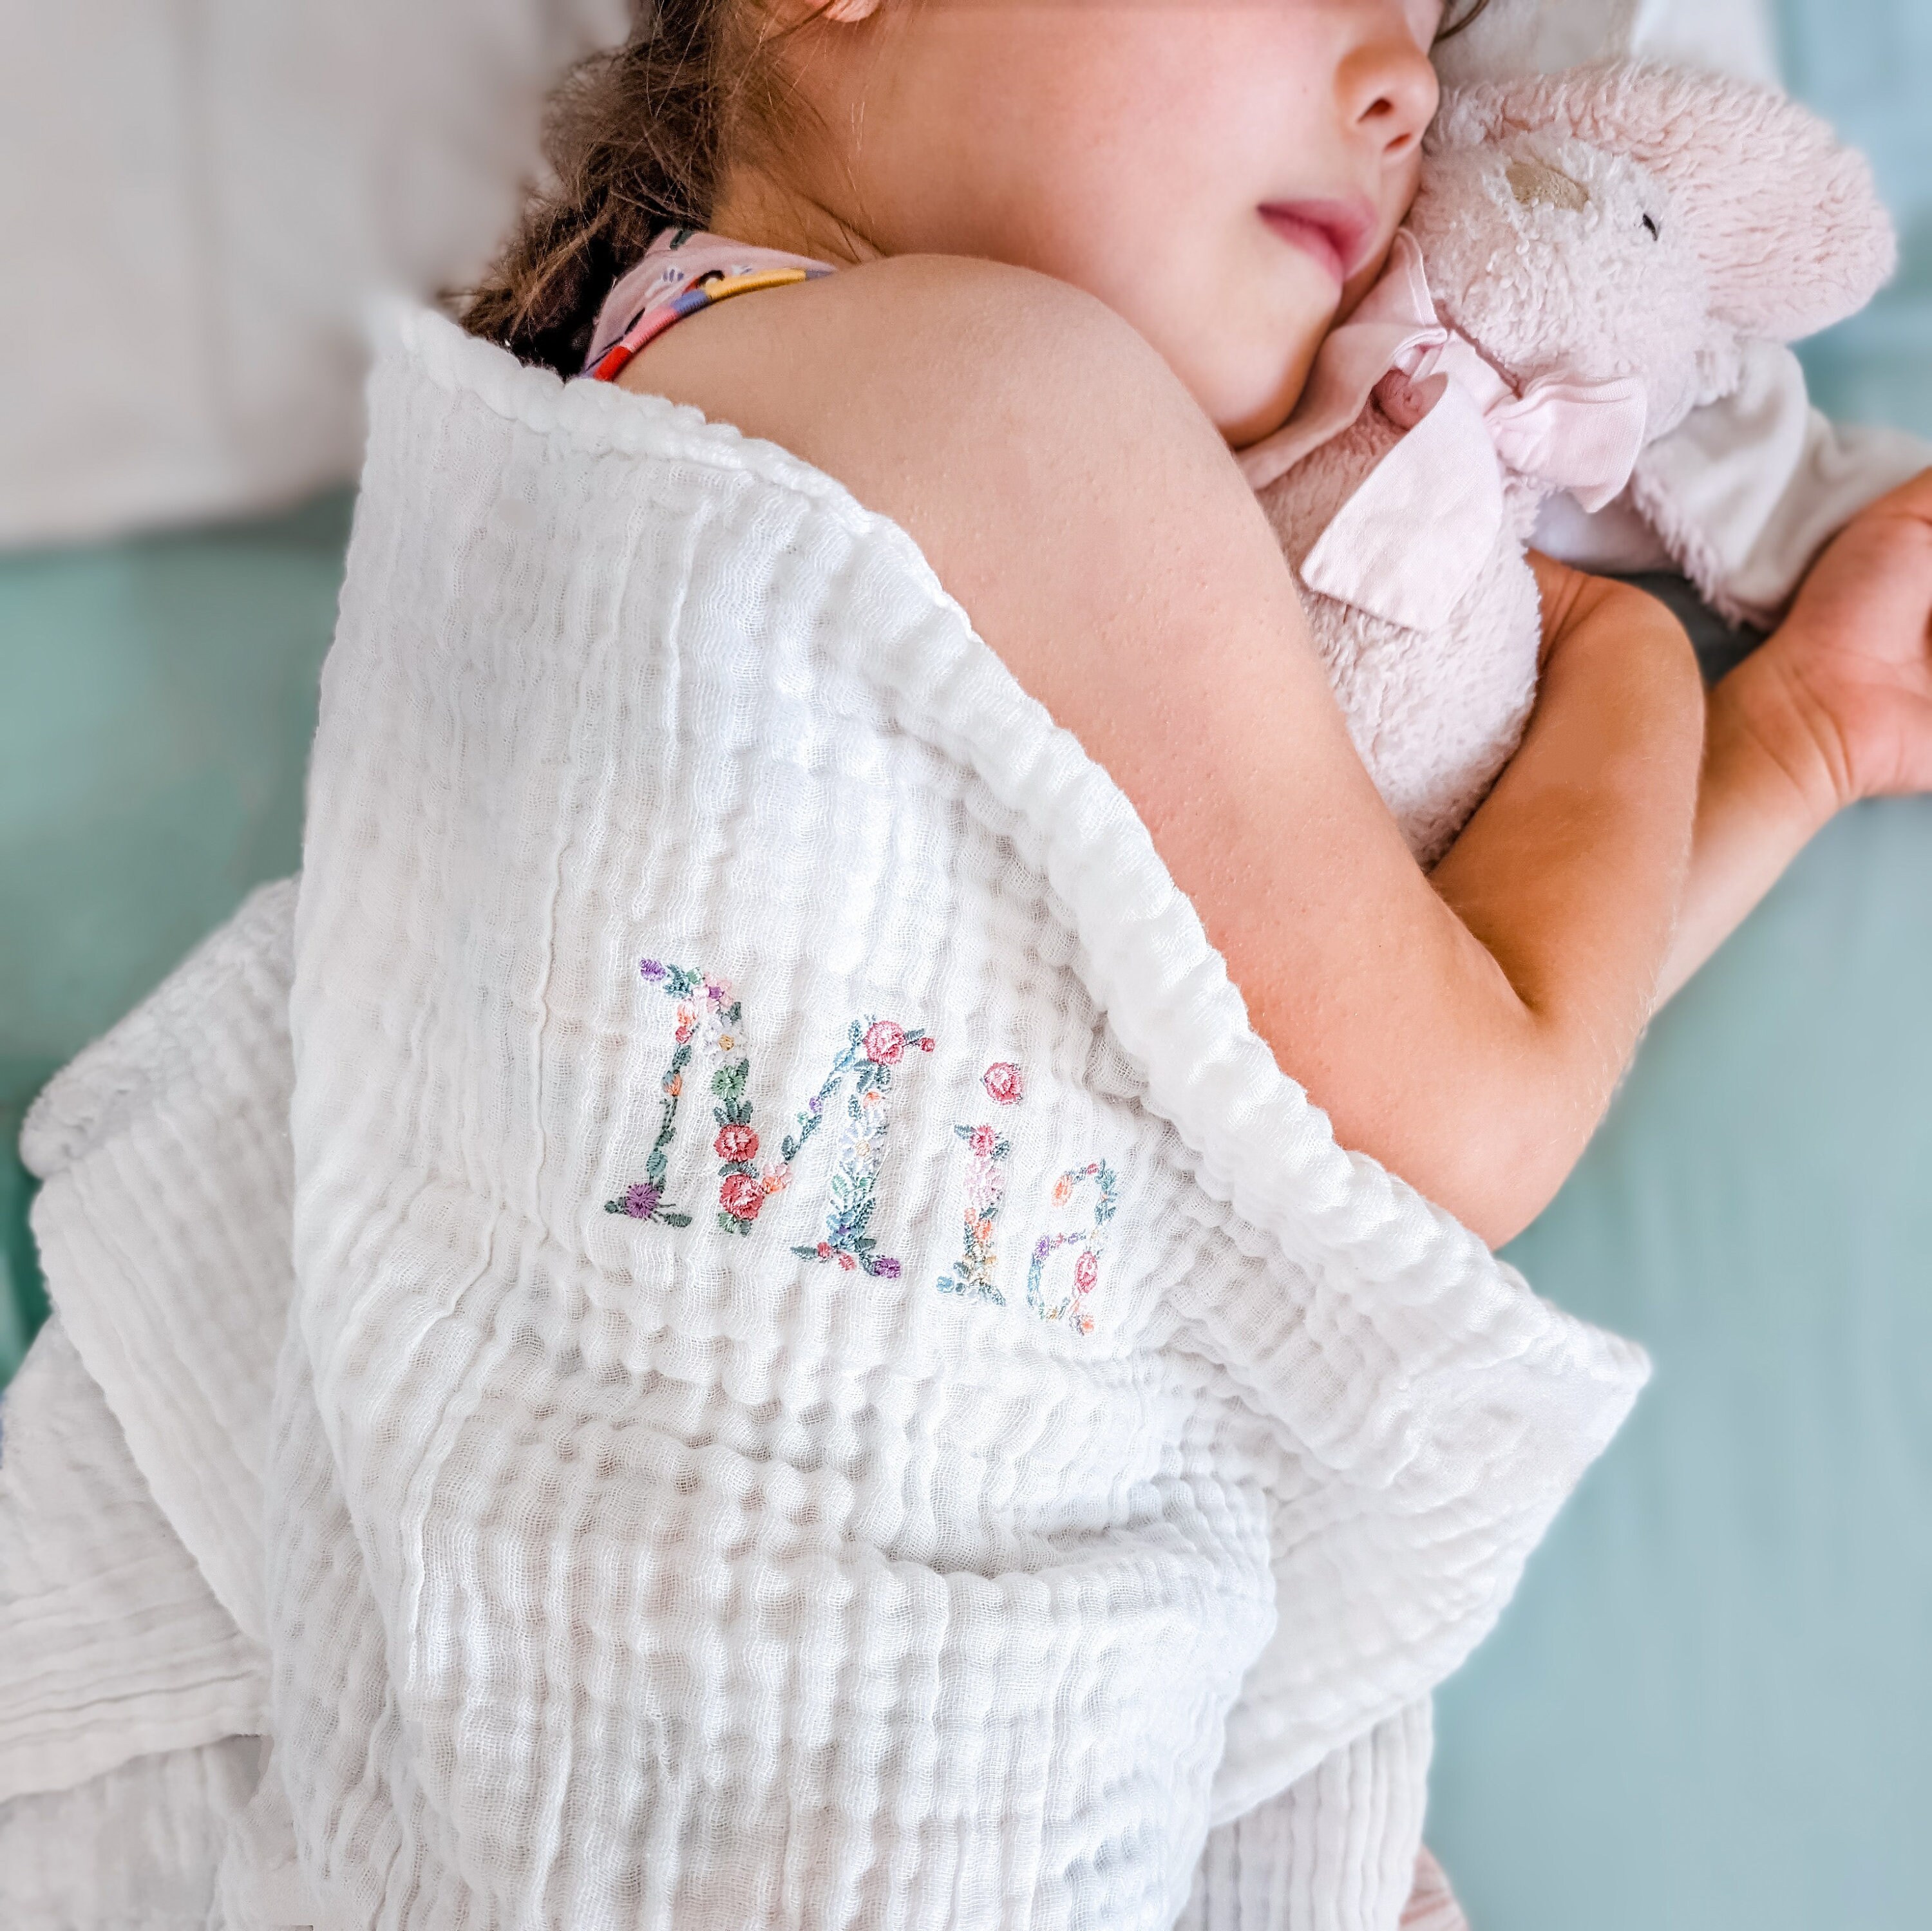
[{"label": "child's bare bent arm from shoulder to wrist, nearest the blanket edge", "polygon": [[[734,321],[750,297],[672,330],[651,380],[902,523],[1140,811],[1343,1145],[1492,1242],[1522,1228],[1609,1101],[1677,913],[1704,703],[1677,624],[1549,566],[1536,718],[1432,881],[1227,442],[1126,322],[960,257],[786,301],[782,330]],[[728,386],[707,386],[699,330],[742,338]]]}]

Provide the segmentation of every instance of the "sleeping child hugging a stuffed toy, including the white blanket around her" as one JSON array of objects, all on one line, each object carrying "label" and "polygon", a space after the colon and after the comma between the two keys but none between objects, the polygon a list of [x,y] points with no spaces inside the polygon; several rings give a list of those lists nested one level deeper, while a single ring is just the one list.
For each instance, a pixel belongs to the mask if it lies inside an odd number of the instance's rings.
[{"label": "sleeping child hugging a stuffed toy, including the white blanket around her", "polygon": [[145,1497],[19,1618],[62,1921],[1459,1921],[1430,1695],[1646,1375],[1493,1249],[1932,786],[1932,481],[1708,701],[1534,556],[1426,873],[1238,454],[1445,25],[663,0],[388,317],[301,877],[29,1124],[10,1460]]}]

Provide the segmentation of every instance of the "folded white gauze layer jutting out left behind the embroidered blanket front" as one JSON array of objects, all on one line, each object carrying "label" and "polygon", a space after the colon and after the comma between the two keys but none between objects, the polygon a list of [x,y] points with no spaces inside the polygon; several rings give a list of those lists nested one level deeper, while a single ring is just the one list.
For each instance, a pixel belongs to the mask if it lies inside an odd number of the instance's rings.
[{"label": "folded white gauze layer jutting out left behind the embroidered blanket front", "polygon": [[46,1085],[19,1149],[64,1340],[156,1520],[257,1643],[290,1305],[294,906],[294,881],[255,892]]}]

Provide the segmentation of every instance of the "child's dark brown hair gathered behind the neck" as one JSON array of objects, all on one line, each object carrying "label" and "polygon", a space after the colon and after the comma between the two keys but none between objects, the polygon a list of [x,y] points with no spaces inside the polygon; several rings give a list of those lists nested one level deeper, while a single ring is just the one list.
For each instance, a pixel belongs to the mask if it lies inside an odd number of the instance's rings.
[{"label": "child's dark brown hair gathered behind the neck", "polygon": [[[1461,33],[1490,0],[1445,19]],[[782,83],[757,0],[634,0],[630,39],[593,54],[551,97],[531,193],[508,245],[458,297],[462,324],[560,375],[583,367],[605,294],[667,226],[703,228],[734,143],[779,141],[804,102]]]}]

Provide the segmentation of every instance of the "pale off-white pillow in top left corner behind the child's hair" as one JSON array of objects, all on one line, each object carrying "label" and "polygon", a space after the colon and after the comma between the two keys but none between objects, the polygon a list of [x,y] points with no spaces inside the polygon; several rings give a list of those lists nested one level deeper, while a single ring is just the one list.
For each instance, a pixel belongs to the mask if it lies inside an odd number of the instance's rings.
[{"label": "pale off-white pillow in top left corner behind the child's hair", "polygon": [[355,475],[361,309],[489,257],[624,0],[6,0],[0,543]]}]

